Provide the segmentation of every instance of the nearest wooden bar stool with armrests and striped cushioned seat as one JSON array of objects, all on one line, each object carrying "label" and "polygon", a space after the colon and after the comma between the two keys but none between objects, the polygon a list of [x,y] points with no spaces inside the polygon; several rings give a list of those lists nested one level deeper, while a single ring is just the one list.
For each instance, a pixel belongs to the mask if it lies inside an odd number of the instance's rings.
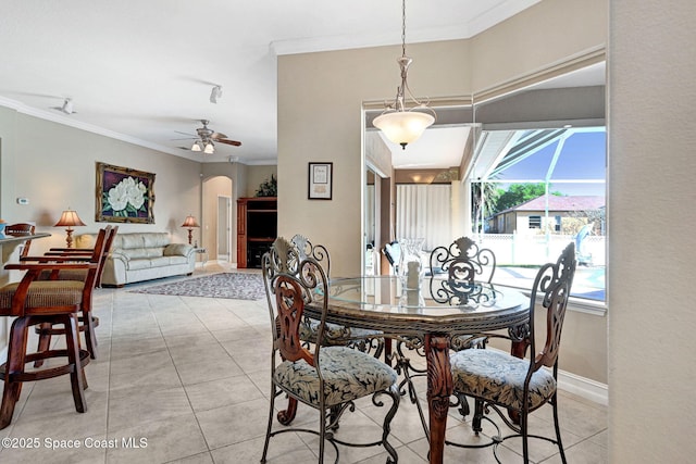
[{"label": "nearest wooden bar stool with armrests and striped cushioned seat", "polygon": [[[24,271],[21,281],[0,288],[0,316],[14,317],[10,329],[8,361],[0,366],[0,378],[4,380],[2,404],[0,405],[0,429],[12,422],[14,406],[20,399],[25,381],[44,380],[61,375],[70,375],[73,401],[77,412],[85,412],[84,390],[87,388],[84,367],[89,363],[89,352],[79,347],[77,314],[97,278],[99,258],[103,251],[105,230],[99,233],[95,244],[94,259],[84,263],[66,263],[60,260],[50,263],[8,264],[5,269]],[[37,280],[46,271],[86,271],[85,280]],[[51,326],[60,324],[66,338],[66,349],[28,352],[29,327],[38,324]],[[26,364],[47,359],[66,359],[59,366],[26,371]]]}]

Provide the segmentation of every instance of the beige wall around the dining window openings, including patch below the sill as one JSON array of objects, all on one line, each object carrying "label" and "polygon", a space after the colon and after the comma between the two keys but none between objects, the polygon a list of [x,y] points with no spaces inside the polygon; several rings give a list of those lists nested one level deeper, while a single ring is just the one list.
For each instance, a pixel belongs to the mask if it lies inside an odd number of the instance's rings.
[{"label": "beige wall around the dining window openings, including patch below the sill", "polygon": [[[411,89],[431,98],[513,89],[524,75],[602,55],[607,0],[544,1],[523,14],[471,40],[408,45]],[[570,17],[582,24],[563,26]],[[380,47],[278,58],[278,234],[324,243],[335,276],[361,272],[361,108],[393,98],[399,55]],[[334,163],[333,201],[307,200],[310,161]],[[561,368],[606,384],[606,318],[574,312],[569,321]]]}]

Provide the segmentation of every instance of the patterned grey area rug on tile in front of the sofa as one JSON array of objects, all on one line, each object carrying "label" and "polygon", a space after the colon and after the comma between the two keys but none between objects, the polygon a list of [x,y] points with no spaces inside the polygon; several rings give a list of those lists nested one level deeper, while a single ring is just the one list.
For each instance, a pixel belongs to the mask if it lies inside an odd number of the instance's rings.
[{"label": "patterned grey area rug on tile in front of the sofa", "polygon": [[265,296],[260,274],[221,273],[130,290],[134,293],[259,300]]}]

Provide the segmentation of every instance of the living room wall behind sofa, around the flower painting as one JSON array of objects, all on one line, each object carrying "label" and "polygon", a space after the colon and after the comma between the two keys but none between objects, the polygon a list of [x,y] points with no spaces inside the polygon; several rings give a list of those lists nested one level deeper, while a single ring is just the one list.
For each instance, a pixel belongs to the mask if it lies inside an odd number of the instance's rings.
[{"label": "living room wall behind sofa, around the flower painting", "polygon": [[[95,221],[98,161],[156,174],[154,224],[121,224],[120,231],[167,231],[175,241],[187,240],[181,225],[189,213],[200,216],[200,163],[7,108],[0,108],[0,115],[2,218],[36,222],[37,230],[52,234],[35,240],[33,251],[64,246],[64,230],[53,224],[67,208],[86,224],[75,235],[104,225]],[[29,204],[17,204],[18,197],[28,198]]]}]

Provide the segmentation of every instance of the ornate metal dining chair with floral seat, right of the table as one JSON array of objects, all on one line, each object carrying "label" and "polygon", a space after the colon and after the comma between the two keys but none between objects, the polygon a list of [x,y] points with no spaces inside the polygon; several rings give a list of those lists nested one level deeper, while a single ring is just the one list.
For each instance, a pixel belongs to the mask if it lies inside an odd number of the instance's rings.
[{"label": "ornate metal dining chair with floral seat, right of the table", "polygon": [[[498,462],[496,448],[513,437],[522,437],[524,462],[530,462],[529,438],[539,438],[558,447],[561,461],[566,463],[566,453],[561,442],[558,424],[558,354],[566,309],[577,261],[574,243],[568,244],[556,263],[542,266],[534,279],[530,297],[530,321],[524,337],[529,346],[529,358],[520,359],[497,350],[462,350],[450,358],[455,391],[472,397],[475,401],[472,428],[476,435],[482,431],[482,419],[490,422],[497,429],[487,443],[463,444],[447,441],[462,448],[483,448],[494,446],[494,455]],[[536,309],[546,313],[546,324],[537,328]],[[517,335],[517,334],[514,334]],[[537,352],[536,340],[544,340]],[[511,340],[518,341],[513,334]],[[527,354],[525,354],[527,355]],[[556,438],[530,435],[530,413],[544,404],[554,409]],[[502,437],[497,424],[486,416],[495,411],[513,434]],[[508,417],[508,413],[519,414],[519,425]]]}]

